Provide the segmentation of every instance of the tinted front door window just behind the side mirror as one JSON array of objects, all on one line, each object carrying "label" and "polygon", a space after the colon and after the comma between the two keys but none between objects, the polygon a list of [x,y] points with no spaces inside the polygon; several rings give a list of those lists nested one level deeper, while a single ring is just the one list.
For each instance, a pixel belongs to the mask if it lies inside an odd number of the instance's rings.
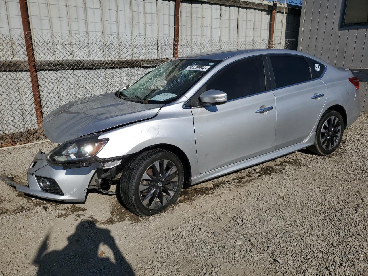
[{"label": "tinted front door window just behind the side mirror", "polygon": [[223,68],[201,87],[199,95],[210,89],[225,92],[227,100],[265,91],[262,57],[238,61]]}]

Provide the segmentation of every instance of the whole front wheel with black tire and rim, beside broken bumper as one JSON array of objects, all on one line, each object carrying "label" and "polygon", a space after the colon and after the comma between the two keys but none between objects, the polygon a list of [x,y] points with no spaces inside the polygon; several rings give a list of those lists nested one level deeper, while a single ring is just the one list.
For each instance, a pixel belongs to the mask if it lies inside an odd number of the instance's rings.
[{"label": "whole front wheel with black tire and rim, beside broken bumper", "polygon": [[[155,171],[155,164],[159,171]],[[151,179],[146,180],[147,176]],[[183,183],[184,169],[180,159],[165,149],[152,149],[141,153],[127,164],[117,187],[117,197],[132,213],[151,216],[177,201]],[[139,191],[140,187],[144,190]],[[150,195],[151,198],[147,199]]]}]

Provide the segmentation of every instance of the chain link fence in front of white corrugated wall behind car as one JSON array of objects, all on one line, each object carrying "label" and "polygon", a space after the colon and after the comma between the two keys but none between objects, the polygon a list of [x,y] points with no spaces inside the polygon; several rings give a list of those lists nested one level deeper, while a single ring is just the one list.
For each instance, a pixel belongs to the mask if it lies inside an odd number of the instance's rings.
[{"label": "chain link fence in front of white corrugated wall behind car", "polygon": [[[114,92],[172,59],[174,38],[114,35],[33,35],[34,66],[23,33],[0,34],[0,147],[45,139],[42,118],[76,99]],[[226,49],[268,48],[251,41],[179,39],[178,55]],[[26,47],[28,46],[28,47]],[[273,41],[296,47],[295,40]],[[28,55],[27,55],[27,51]],[[39,93],[39,96],[37,94]]]}]

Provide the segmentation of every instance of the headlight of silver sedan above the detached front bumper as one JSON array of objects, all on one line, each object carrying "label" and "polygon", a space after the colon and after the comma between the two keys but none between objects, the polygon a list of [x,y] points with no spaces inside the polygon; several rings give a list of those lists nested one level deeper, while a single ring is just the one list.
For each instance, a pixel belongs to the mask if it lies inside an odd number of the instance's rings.
[{"label": "headlight of silver sedan above the detached front bumper", "polygon": [[48,155],[50,163],[74,163],[91,159],[106,145],[109,139],[98,139],[101,134],[65,142],[54,148]]}]

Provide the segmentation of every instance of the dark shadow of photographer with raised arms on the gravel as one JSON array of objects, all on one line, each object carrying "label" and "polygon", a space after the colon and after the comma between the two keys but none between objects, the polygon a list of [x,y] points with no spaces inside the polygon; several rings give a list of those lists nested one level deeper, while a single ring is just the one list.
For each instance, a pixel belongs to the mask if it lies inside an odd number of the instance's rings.
[{"label": "dark shadow of photographer with raised arms on the gravel", "polygon": [[[49,234],[33,260],[33,264],[38,266],[38,276],[135,275],[110,230],[99,228],[90,220],[78,224],[75,233],[68,237],[68,244],[61,250],[46,252],[48,240]],[[115,262],[98,252],[100,244],[112,250]]]}]

